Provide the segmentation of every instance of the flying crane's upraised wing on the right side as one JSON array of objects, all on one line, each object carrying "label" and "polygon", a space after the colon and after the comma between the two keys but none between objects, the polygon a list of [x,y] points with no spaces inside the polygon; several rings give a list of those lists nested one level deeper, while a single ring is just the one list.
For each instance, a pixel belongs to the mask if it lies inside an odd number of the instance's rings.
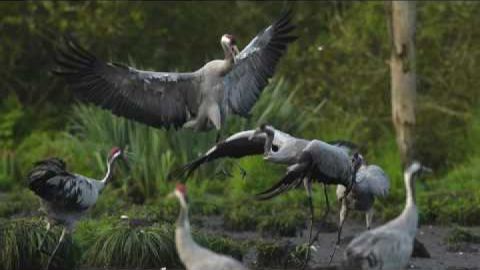
[{"label": "flying crane's upraised wing on the right side", "polygon": [[248,116],[263,88],[268,84],[287,45],[297,37],[290,35],[291,12],[260,32],[236,56],[233,69],[225,76],[225,105],[234,113]]}]

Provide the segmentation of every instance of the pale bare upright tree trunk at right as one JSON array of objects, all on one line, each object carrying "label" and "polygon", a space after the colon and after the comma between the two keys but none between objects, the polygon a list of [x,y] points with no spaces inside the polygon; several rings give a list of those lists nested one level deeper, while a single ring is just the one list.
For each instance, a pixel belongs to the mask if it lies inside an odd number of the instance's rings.
[{"label": "pale bare upright tree trunk at right", "polygon": [[392,120],[402,164],[405,166],[414,156],[416,3],[392,1],[387,6],[392,40]]}]

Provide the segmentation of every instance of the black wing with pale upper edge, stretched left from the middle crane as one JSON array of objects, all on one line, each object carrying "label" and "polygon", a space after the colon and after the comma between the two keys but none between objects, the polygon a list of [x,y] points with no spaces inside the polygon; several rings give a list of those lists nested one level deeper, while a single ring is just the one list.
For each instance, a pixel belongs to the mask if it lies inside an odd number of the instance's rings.
[{"label": "black wing with pale upper edge, stretched left from the middle crane", "polygon": [[205,154],[196,160],[186,164],[176,172],[170,174],[169,178],[177,175],[190,175],[200,165],[218,158],[232,157],[242,158],[251,155],[260,155],[264,152],[265,134],[258,134],[250,140],[254,130],[247,130],[233,134],[224,141],[219,142],[210,148]]}]

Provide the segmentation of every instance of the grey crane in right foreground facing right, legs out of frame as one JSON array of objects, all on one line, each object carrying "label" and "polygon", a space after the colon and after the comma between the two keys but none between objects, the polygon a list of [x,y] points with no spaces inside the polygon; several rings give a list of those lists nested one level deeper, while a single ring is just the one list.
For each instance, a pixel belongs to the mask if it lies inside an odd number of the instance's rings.
[{"label": "grey crane in right foreground facing right, legs out of frame", "polygon": [[404,269],[407,266],[418,226],[415,180],[422,173],[431,171],[419,162],[413,162],[405,170],[407,199],[403,212],[385,225],[365,231],[354,238],[345,249],[346,266],[383,270]]}]

